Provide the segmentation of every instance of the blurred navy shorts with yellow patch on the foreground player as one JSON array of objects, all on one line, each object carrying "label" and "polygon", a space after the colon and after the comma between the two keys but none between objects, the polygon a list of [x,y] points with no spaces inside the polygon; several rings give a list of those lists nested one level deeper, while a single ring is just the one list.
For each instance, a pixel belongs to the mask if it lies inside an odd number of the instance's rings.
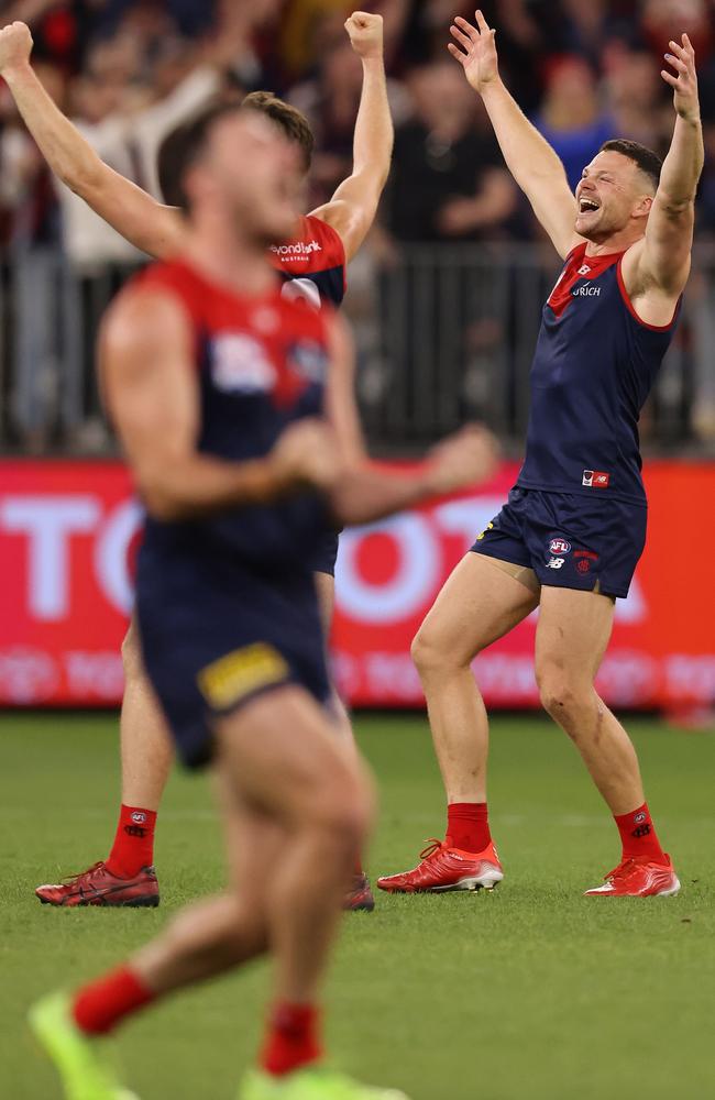
[{"label": "blurred navy shorts with yellow patch on the foreground player", "polygon": [[136,613],[144,664],[189,768],[213,754],[212,719],[293,683],[330,695],[312,573],[264,575],[235,560],[142,547]]}]

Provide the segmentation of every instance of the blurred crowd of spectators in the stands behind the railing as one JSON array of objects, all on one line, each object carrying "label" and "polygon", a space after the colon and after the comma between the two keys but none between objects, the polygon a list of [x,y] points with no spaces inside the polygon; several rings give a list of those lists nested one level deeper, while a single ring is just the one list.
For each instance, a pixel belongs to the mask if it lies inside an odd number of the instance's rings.
[{"label": "blurred crowd of spectators in the stands behind the railing", "polygon": [[[34,65],[53,98],[109,164],[155,194],[156,150],[177,123],[217,96],[277,92],[315,128],[310,205],[318,206],[351,167],[362,69],[343,22],[354,7],[356,0],[0,0],[0,25],[14,19],[31,25]],[[375,0],[362,7],[384,18],[396,142],[378,224],[351,274],[358,320],[361,310],[363,318],[375,312],[369,286],[376,282],[375,263],[389,268],[407,243],[542,240],[479,97],[446,48],[453,16],[471,18],[473,8],[460,0]],[[688,32],[697,56],[707,154],[697,238],[715,241],[715,0],[485,0],[483,11],[497,28],[508,87],[562,157],[572,185],[607,138],[632,138],[664,154],[673,110],[659,75],[662,54],[669,38]],[[31,300],[36,278],[28,256],[43,250],[64,257],[89,297],[98,272],[140,258],[55,184],[1,82],[0,242],[6,255],[25,257]],[[703,308],[702,323],[686,338],[685,353],[695,363],[688,400],[700,409],[701,438],[715,439],[715,381],[703,366],[710,350],[704,359],[696,346],[711,349],[715,339],[715,321],[708,320],[715,279],[692,293]],[[15,419],[25,437],[33,419],[45,416],[37,414],[38,341],[52,348],[57,328],[53,320],[42,336],[37,318],[35,299],[28,317],[18,319],[21,359],[34,364],[19,372],[21,381],[31,378],[24,396],[22,389],[16,396]],[[501,339],[502,330],[487,321],[491,334],[476,340],[475,355],[480,340],[486,353]],[[502,318],[502,329],[504,323]],[[365,331],[369,362],[370,341],[377,337]],[[400,354],[411,353],[407,348]],[[91,356],[90,342],[85,355]],[[384,365],[384,355],[373,359]],[[50,377],[52,370],[45,373]],[[370,371],[363,380],[370,388]],[[685,422],[690,411],[683,417]]]}]

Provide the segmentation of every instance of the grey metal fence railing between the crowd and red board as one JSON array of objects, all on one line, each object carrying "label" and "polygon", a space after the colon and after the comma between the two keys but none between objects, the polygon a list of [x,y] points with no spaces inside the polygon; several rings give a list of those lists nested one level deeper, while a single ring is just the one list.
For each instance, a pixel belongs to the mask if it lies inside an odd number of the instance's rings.
[{"label": "grey metal fence railing between the crowd and red board", "polygon": [[[74,273],[56,251],[0,270],[0,450],[112,448],[96,381],[101,315],[131,274]],[[363,261],[348,297],[359,396],[374,447],[409,450],[466,419],[518,447],[543,300],[558,274],[539,245],[416,245],[378,268]],[[644,417],[650,450],[715,453],[715,250],[696,250],[683,317]]]}]

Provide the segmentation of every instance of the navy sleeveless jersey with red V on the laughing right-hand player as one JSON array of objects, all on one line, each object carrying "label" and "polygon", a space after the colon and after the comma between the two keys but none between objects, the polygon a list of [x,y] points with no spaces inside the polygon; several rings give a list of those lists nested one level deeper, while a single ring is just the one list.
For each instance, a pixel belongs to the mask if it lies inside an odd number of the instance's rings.
[{"label": "navy sleeveless jersey with red V on the laughing right-hand player", "polygon": [[543,307],[531,365],[521,488],[645,503],[638,418],[671,342],[641,321],[624,286],[623,253],[569,254]]}]

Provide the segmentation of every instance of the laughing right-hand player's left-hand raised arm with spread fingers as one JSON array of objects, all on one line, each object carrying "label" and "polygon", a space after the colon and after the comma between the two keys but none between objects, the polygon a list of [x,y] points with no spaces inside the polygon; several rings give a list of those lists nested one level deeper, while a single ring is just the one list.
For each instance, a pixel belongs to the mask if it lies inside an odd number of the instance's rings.
[{"label": "laughing right-hand player's left-hand raised arm with spread fingers", "polygon": [[496,31],[488,26],[481,11],[475,12],[474,19],[475,26],[460,15],[455,18],[450,31],[459,45],[450,42],[448,50],[482,97],[507,168],[557,252],[565,256],[581,238],[573,228],[576,200],[563,165],[502,81],[494,42]]}]

